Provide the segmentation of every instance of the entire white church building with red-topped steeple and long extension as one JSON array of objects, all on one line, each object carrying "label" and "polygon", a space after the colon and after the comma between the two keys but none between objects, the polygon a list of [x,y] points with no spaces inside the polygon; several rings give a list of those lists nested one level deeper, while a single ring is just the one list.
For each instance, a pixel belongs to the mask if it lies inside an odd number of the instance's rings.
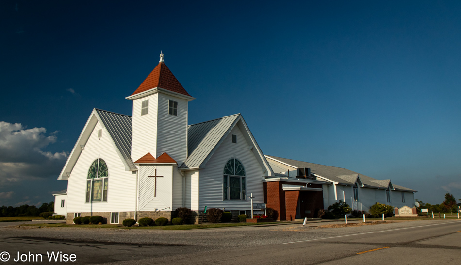
[{"label": "entire white church building with red-topped steeple and long extension", "polygon": [[[251,210],[250,193],[254,203],[277,209],[280,220],[316,217],[319,208],[339,200],[366,210],[382,202],[389,188],[392,198],[405,192],[406,205],[413,204],[416,191],[390,181],[373,182],[355,172],[329,175],[316,164],[264,156],[240,114],[188,125],[188,103],[195,98],[165,65],[163,54],[126,99],[132,101],[132,116],[91,112],[58,177],[67,181],[67,190],[55,194],[55,206],[63,206],[57,208],[67,223],[92,215],[115,224],[126,218],[171,220],[179,207],[195,211],[199,223],[205,206],[236,217]],[[354,203],[356,184],[362,199]],[[316,202],[309,204],[310,198]]]}]

